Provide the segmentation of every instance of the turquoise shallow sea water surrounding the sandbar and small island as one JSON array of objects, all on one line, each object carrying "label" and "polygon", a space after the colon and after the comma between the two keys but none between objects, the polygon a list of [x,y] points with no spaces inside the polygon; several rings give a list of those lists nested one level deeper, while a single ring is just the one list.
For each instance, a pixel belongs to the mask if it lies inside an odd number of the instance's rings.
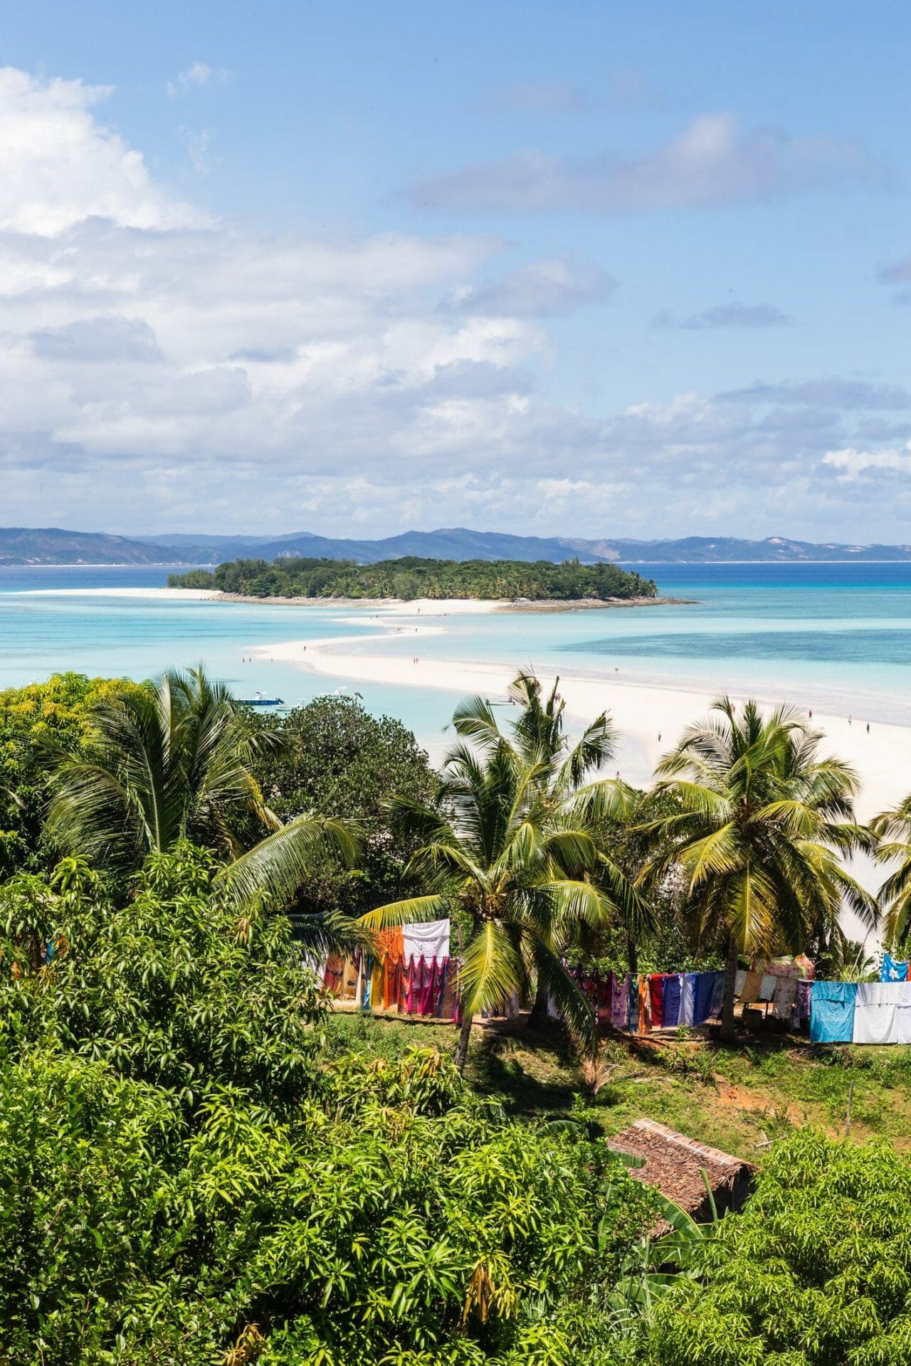
[{"label": "turquoise shallow sea water surrounding the sandbar and small island", "polygon": [[[643,567],[636,566],[642,572]],[[615,673],[626,682],[729,688],[822,710],[911,724],[911,566],[656,566],[662,593],[687,607],[560,615],[466,613],[444,635],[406,628],[374,638],[370,613],[117,596],[160,586],[165,570],[0,568],[0,686],[55,669],[146,678],[205,660],[242,697],[300,702],[336,687],[295,665],[243,663],[247,647],[335,637],[350,649],[423,658],[530,664]],[[107,589],[111,596],[72,593]],[[63,590],[63,591],[61,591]],[[354,620],[352,620],[354,619]],[[367,637],[366,641],[361,639]],[[455,695],[359,686],[372,710],[438,736]]]}]

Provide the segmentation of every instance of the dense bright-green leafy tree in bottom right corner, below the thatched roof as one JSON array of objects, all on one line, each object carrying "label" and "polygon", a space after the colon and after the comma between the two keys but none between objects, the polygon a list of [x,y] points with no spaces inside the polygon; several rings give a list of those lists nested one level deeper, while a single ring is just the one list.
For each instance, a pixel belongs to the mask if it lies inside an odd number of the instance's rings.
[{"label": "dense bright-green leafy tree in bottom right corner, below the thatched roof", "polygon": [[639,1366],[911,1361],[911,1161],[802,1131],[657,1306]]}]

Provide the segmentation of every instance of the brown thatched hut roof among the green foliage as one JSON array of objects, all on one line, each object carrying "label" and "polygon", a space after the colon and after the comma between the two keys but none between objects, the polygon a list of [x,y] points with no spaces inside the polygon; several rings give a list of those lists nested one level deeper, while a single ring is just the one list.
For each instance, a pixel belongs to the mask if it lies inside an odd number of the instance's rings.
[{"label": "brown thatched hut roof among the green foliage", "polygon": [[645,1167],[631,1168],[630,1175],[649,1186],[657,1186],[662,1195],[686,1209],[697,1223],[712,1214],[702,1171],[709,1179],[718,1214],[740,1209],[750,1194],[755,1171],[753,1162],[731,1157],[707,1143],[698,1143],[653,1119],[638,1119],[621,1134],[615,1134],[609,1147],[642,1157]]}]

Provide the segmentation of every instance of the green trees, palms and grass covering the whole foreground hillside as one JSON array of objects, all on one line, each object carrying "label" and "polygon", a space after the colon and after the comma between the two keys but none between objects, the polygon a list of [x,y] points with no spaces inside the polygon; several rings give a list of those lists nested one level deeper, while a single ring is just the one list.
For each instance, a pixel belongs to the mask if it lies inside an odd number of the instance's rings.
[{"label": "green trees, palms and grass covering the whole foreground hillside", "polygon": [[[511,701],[434,775],[352,698],[260,716],[202,669],[0,695],[0,1366],[911,1358],[911,1049],[598,1040],[565,970],[839,970],[854,848],[897,856],[901,943],[908,803],[856,825],[784,710],[721,701],[638,792],[606,714]],[[329,1011],[314,945],[441,914],[460,1030]],[[636,1182],[605,1139],[643,1116],[757,1161],[746,1210]]]}]

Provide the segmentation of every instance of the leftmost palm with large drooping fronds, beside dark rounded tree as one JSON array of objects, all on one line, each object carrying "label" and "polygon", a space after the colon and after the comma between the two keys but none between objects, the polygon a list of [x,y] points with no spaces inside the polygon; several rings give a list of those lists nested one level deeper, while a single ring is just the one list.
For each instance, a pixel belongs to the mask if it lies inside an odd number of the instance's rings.
[{"label": "leftmost palm with large drooping fronds, beside dark rounded tree", "polygon": [[93,709],[87,744],[53,775],[46,831],[63,850],[122,873],[188,839],[221,855],[217,885],[239,906],[284,906],[314,855],[350,862],[356,839],[344,821],[309,814],[283,825],[268,809],[251,769],[276,743],[250,734],[202,665],[169,669],[154,688]]}]

